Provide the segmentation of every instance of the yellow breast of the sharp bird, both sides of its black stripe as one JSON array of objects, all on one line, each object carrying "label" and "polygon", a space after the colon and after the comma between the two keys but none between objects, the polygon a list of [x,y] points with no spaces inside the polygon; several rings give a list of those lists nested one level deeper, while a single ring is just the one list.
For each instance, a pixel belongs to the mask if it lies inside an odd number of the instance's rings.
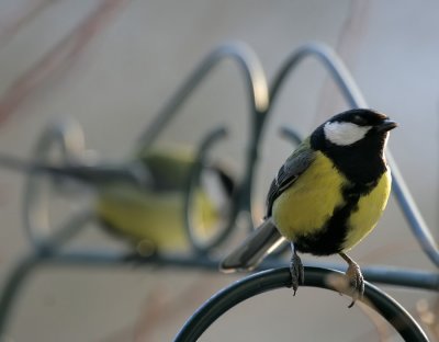
[{"label": "yellow breast of the sharp bird, both sides of its black stripe", "polygon": [[[289,240],[322,233],[335,210],[344,207],[346,200],[341,189],[349,181],[322,152],[299,179],[273,203],[272,216],[279,231]],[[391,174],[384,173],[376,186],[360,196],[357,206],[346,221],[346,236],[340,240],[342,251],[361,241],[380,219],[391,192]]]}]

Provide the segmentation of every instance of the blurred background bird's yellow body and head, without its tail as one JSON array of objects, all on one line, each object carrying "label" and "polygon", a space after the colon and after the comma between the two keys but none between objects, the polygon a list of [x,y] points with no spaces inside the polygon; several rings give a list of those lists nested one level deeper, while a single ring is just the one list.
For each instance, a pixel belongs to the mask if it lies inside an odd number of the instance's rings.
[{"label": "blurred background bird's yellow body and head, without its tail", "polygon": [[[151,185],[112,182],[97,187],[95,213],[109,231],[135,244],[139,253],[188,251],[184,193],[195,155],[182,148],[148,149],[134,169],[146,169]],[[134,172],[135,173],[135,172]],[[234,181],[224,167],[205,166],[193,191],[191,218],[201,240],[221,229],[230,209]]]}]

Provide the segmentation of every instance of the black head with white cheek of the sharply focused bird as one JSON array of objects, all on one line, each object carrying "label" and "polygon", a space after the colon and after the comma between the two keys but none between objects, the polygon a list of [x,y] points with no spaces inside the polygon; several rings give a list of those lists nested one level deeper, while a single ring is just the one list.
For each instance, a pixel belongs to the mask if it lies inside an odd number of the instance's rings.
[{"label": "black head with white cheek of the sharply focused bird", "polygon": [[328,156],[352,180],[375,179],[385,171],[383,150],[396,123],[365,109],[346,111],[317,127],[311,145]]}]

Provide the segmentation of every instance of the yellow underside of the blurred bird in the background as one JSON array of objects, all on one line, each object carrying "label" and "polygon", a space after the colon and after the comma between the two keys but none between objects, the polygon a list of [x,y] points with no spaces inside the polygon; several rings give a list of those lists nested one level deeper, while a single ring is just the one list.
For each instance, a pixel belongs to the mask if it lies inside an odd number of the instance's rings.
[{"label": "yellow underside of the blurred bird in the background", "polygon": [[[187,252],[184,197],[180,192],[151,193],[133,186],[108,186],[95,202],[98,216],[134,243],[149,241],[161,252]],[[198,191],[191,207],[193,225],[200,239],[215,233],[221,219],[218,209]]]}]

